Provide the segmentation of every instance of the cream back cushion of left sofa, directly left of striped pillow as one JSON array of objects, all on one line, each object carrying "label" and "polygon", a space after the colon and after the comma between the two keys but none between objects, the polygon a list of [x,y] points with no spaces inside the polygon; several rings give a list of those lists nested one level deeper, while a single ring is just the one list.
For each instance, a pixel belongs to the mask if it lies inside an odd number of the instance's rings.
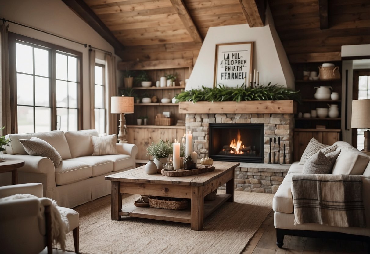
[{"label": "cream back cushion of left sofa, directly left of striped pillow", "polygon": [[91,136],[99,136],[97,130],[67,131],[65,138],[72,158],[89,156],[94,152]]}]

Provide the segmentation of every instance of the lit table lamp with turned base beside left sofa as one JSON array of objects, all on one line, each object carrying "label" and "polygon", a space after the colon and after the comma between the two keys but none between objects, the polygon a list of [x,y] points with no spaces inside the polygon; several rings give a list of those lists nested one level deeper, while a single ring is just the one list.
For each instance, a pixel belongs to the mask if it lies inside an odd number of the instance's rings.
[{"label": "lit table lamp with turned base beside left sofa", "polygon": [[119,143],[127,143],[127,130],[126,130],[126,119],[125,114],[134,113],[134,97],[122,97],[114,96],[111,97],[111,113],[120,114],[120,125],[118,129],[118,140]]}]

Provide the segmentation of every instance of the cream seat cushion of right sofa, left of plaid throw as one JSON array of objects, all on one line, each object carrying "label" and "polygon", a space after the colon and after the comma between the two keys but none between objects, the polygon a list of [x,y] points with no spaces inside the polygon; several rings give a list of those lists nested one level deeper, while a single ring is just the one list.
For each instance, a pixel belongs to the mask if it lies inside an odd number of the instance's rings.
[{"label": "cream seat cushion of right sofa, left of plaid throw", "polygon": [[298,173],[287,174],[283,182],[277,189],[272,200],[272,210],[282,213],[293,213],[293,196],[291,190],[292,176],[300,175]]}]

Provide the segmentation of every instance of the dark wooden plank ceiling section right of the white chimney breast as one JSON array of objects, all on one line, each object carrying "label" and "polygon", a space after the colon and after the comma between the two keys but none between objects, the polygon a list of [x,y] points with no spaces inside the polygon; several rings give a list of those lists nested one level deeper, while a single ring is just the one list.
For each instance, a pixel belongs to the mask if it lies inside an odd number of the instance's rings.
[{"label": "dark wooden plank ceiling section right of the white chimney breast", "polygon": [[291,63],[340,60],[342,45],[370,43],[369,0],[268,0],[268,3]]}]

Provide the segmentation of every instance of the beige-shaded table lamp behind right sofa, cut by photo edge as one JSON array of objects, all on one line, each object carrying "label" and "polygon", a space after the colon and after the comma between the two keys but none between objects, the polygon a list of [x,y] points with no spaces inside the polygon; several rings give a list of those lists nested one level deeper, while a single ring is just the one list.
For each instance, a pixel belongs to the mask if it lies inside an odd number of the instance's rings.
[{"label": "beige-shaded table lamp behind right sofa, cut by photo edge", "polygon": [[367,128],[362,151],[370,152],[370,99],[352,101],[351,128]]}]

